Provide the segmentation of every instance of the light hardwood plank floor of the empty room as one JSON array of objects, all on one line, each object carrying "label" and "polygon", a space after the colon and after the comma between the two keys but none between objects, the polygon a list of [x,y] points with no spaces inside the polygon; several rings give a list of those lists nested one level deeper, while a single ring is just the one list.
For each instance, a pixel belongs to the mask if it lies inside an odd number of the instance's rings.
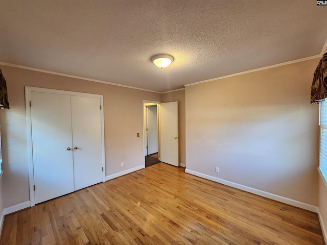
[{"label": "light hardwood plank floor of the empty room", "polygon": [[316,213],[164,163],[7,215],[0,244],[324,244]]}]

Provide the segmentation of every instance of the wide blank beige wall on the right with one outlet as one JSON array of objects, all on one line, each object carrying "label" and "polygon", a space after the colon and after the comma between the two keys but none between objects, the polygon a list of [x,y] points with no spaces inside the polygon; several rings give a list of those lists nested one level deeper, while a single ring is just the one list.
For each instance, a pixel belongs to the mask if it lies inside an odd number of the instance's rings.
[{"label": "wide blank beige wall on the right with one outlet", "polygon": [[318,62],[187,86],[186,168],[317,206]]}]

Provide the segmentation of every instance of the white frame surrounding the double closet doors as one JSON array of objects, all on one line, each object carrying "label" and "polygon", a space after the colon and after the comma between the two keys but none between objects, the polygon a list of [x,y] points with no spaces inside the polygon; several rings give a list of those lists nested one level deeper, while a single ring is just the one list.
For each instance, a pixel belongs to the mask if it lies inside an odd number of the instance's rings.
[{"label": "white frame surrounding the double closet doors", "polygon": [[84,97],[96,97],[100,98],[101,105],[101,143],[102,143],[102,181],[106,181],[105,176],[105,148],[104,148],[104,120],[103,120],[103,95],[91,94],[91,93],[80,93],[73,91],[64,91],[57,89],[48,88],[37,88],[25,86],[25,110],[26,110],[26,125],[27,125],[27,154],[28,154],[28,168],[29,168],[29,187],[30,187],[30,202],[31,207],[35,206],[35,195],[34,195],[34,169],[33,169],[33,149],[32,149],[32,125],[31,125],[31,107],[30,107],[30,92],[41,92],[41,93],[54,93],[54,94],[65,94],[65,95],[77,95]]}]

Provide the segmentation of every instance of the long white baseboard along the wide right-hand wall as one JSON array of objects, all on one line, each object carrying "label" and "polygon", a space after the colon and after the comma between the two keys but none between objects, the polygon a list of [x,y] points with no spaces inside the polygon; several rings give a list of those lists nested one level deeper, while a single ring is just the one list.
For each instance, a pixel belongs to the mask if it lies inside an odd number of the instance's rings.
[{"label": "long white baseboard along the wide right-hand wall", "polygon": [[289,204],[289,205],[292,205],[292,206],[295,206],[295,207],[298,207],[298,208],[306,209],[306,210],[309,210],[309,211],[312,211],[312,212],[315,212],[315,213],[319,212],[319,208],[317,206],[307,204],[307,203],[302,203],[302,202],[299,202],[299,201],[296,201],[296,200],[293,200],[293,199],[290,199],[290,198],[285,198],[285,197],[282,197],[280,195],[276,195],[276,194],[273,194],[273,193],[270,193],[270,192],[266,192],[266,191],[263,191],[263,190],[258,190],[258,189],[248,187],[248,186],[245,186],[245,185],[241,185],[241,184],[238,184],[238,183],[234,183],[234,182],[231,182],[231,181],[228,181],[228,180],[223,180],[223,179],[219,179],[217,177],[205,175],[205,174],[202,174],[202,173],[199,173],[197,171],[193,171],[193,170],[190,170],[190,169],[187,169],[187,168],[185,169],[185,173],[195,175],[195,176],[207,179],[207,180],[212,180],[212,181],[215,181],[215,182],[218,182],[218,183],[221,183],[221,184],[224,184],[224,185],[228,185],[230,187],[234,187],[234,188],[237,188],[237,189],[240,189],[240,190],[245,190],[245,191],[253,193],[253,194],[261,195],[261,197],[265,197],[265,198],[269,198],[269,199],[272,199],[272,200],[275,200],[275,201],[278,201],[278,202],[286,203],[286,204]]}]

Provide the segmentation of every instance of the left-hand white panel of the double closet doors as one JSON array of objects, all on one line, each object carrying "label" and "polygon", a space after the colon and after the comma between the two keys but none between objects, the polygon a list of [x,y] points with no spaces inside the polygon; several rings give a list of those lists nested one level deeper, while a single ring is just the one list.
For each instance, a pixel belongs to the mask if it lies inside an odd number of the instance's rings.
[{"label": "left-hand white panel of the double closet doors", "polygon": [[74,191],[71,96],[31,92],[35,203]]}]

